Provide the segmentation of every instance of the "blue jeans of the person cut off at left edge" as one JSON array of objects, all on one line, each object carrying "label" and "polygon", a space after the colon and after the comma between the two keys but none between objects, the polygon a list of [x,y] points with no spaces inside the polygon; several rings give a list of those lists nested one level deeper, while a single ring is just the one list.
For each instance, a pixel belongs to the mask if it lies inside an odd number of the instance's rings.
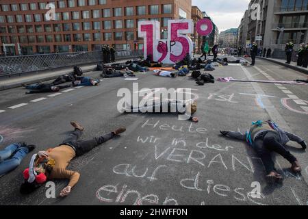
[{"label": "blue jeans of the person cut off at left edge", "polygon": [[27,153],[29,153],[29,149],[18,143],[10,144],[0,151],[0,176],[19,166]]}]

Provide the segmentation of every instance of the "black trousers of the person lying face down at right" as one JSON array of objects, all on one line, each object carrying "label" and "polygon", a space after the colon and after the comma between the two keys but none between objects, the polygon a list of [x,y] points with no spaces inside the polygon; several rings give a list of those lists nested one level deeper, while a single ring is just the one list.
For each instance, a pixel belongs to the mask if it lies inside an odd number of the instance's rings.
[{"label": "black trousers of the person lying face down at right", "polygon": [[276,131],[268,131],[267,133],[261,134],[261,136],[257,136],[253,147],[261,158],[267,173],[275,170],[274,162],[270,155],[272,152],[279,153],[290,163],[296,161],[296,157],[281,144],[279,133]]}]

